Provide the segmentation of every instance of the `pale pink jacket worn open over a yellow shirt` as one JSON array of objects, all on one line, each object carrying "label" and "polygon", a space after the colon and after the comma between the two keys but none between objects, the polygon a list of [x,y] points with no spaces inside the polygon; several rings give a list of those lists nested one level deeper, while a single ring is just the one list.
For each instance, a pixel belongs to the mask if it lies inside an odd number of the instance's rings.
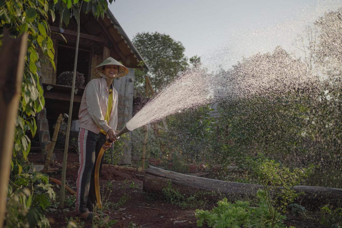
[{"label": "pale pink jacket worn open over a yellow shirt", "polygon": [[101,129],[108,131],[116,130],[118,125],[118,92],[113,87],[113,106],[109,116],[109,123],[104,119],[108,107],[109,91],[106,79],[103,77],[91,80],[82,96],[80,110],[78,112],[80,128],[87,129],[96,134]]}]

